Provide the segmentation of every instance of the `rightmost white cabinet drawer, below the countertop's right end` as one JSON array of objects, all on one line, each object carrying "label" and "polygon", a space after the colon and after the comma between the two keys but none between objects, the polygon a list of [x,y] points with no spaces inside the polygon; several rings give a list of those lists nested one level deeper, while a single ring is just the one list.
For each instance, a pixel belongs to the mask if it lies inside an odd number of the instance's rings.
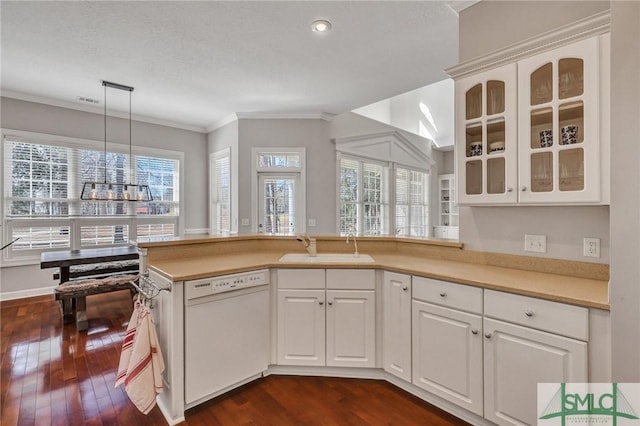
[{"label": "rightmost white cabinet drawer, below the countertop's right end", "polygon": [[484,314],[574,339],[589,340],[589,310],[579,306],[485,290]]}]

